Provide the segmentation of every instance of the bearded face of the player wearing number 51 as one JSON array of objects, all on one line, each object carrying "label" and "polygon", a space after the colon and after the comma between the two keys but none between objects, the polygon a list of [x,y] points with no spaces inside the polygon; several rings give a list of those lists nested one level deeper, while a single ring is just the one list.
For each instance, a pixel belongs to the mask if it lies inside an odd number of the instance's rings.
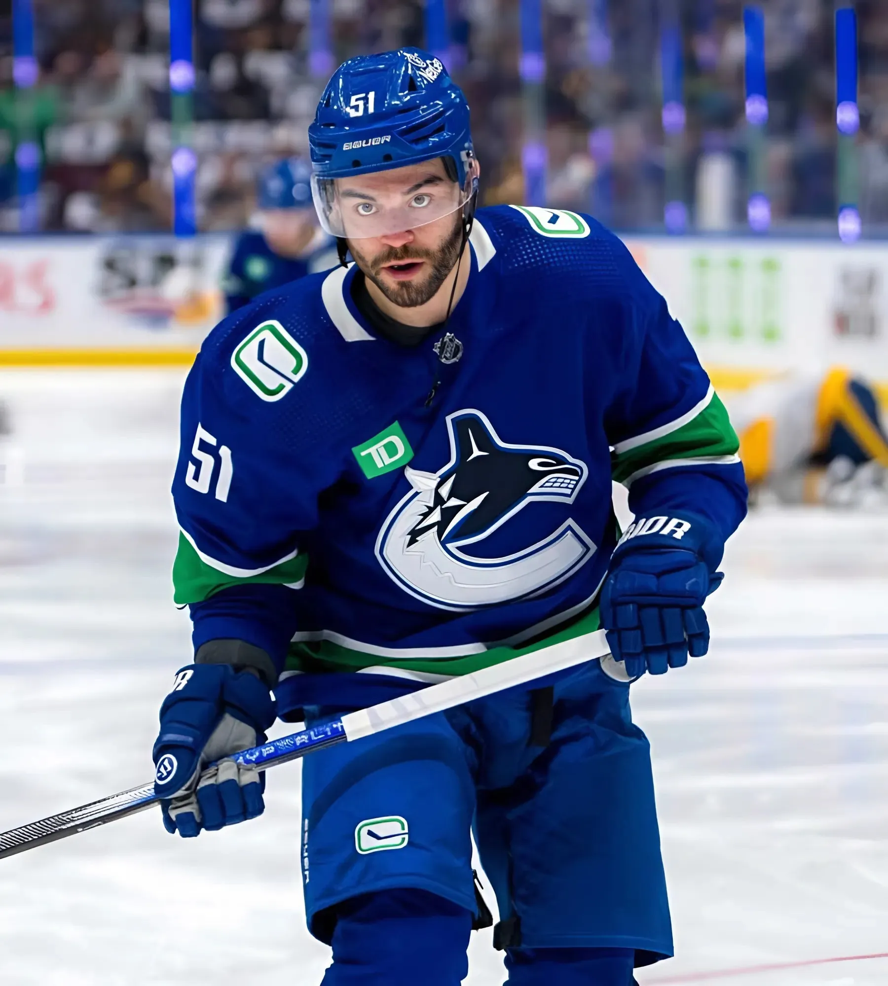
[{"label": "bearded face of the player wearing number 51", "polygon": [[[447,186],[450,186],[448,188]],[[425,196],[452,194],[458,186],[438,159],[407,168],[342,179],[343,201],[404,208],[415,201],[417,218]],[[437,294],[456,264],[462,245],[463,210],[430,223],[378,237],[348,239],[348,248],[364,275],[396,305],[415,308]]]}]

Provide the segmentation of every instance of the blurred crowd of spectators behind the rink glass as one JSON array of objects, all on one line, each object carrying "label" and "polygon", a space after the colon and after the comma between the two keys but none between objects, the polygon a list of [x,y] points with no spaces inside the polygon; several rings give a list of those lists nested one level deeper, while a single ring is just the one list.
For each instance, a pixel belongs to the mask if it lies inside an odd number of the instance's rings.
[{"label": "blurred crowd of spectators behind the rink glass", "polygon": [[[10,5],[0,7],[0,228],[14,228],[15,152],[43,155],[42,227],[168,230],[168,0],[34,0],[37,85],[13,87]],[[198,220],[243,227],[255,176],[306,150],[323,86],[309,58],[310,0],[194,0]],[[833,223],[834,0],[762,0],[770,100],[766,169],[775,225]],[[687,125],[683,196],[692,222],[745,220],[740,0],[544,0],[548,201],[625,230],[662,224],[659,25],[682,22]],[[888,3],[857,0],[864,223],[888,222]],[[333,58],[424,42],[421,0],[329,0]],[[448,0],[449,66],[473,111],[486,203],[524,196],[518,0]],[[333,66],[331,66],[333,67]],[[315,68],[318,69],[317,59]],[[717,176],[721,206],[706,219]],[[711,210],[710,210],[711,211]],[[718,218],[720,216],[720,218]],[[714,225],[713,225],[714,223]]]}]

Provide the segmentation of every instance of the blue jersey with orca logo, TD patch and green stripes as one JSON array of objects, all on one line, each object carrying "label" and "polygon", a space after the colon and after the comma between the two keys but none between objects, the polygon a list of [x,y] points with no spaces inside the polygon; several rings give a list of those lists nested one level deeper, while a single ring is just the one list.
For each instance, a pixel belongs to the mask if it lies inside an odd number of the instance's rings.
[{"label": "blue jersey with orca logo, TD patch and green stripes", "polygon": [[596,628],[612,478],[635,514],[744,515],[724,407],[616,237],[497,206],[470,242],[443,337],[378,337],[337,267],[227,317],[188,376],[176,600],[195,648],[271,655],[283,713]]}]

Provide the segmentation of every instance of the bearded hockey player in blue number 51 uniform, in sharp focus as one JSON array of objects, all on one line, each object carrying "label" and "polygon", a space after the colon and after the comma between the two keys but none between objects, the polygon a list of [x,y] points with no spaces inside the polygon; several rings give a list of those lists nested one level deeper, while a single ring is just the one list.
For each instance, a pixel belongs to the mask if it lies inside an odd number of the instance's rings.
[{"label": "bearded hockey player in blue number 51 uniform, in sharp focus", "polygon": [[672,952],[629,681],[706,651],[745,511],[736,436],[619,240],[572,212],[476,211],[440,61],[345,62],[310,140],[354,262],[226,318],[185,387],[174,581],[195,655],[154,747],[165,823],[258,815],[255,770],[204,766],[275,714],[316,723],[602,625],[581,669],[308,757],[301,862],[324,986],[466,977],[473,828],[509,983],[629,986]]}]

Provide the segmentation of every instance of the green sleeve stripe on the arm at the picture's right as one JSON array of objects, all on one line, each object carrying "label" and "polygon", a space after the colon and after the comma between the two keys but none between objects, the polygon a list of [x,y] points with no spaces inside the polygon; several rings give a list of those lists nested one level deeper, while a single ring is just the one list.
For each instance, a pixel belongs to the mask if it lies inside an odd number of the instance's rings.
[{"label": "green sleeve stripe on the arm at the picture's right", "polygon": [[[619,450],[619,445],[617,448]],[[615,452],[613,476],[618,483],[623,483],[639,469],[658,462],[667,462],[672,458],[731,457],[736,455],[739,448],[740,443],[724,404],[718,399],[718,394],[713,393],[712,399],[700,413],[675,431],[636,445],[626,452]],[[683,461],[682,464],[686,463]]]}]

